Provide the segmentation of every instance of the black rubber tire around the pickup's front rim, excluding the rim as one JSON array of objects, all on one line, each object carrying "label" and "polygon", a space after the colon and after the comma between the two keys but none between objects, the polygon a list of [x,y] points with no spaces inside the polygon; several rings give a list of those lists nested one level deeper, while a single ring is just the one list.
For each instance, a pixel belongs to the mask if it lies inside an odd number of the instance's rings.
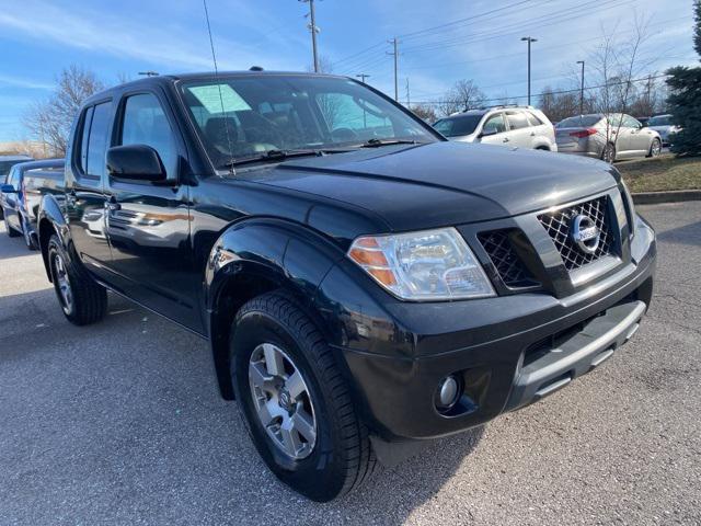
[{"label": "black rubber tire around the pickup's front rim, excluding the rim", "polygon": [[[284,350],[308,388],[317,433],[313,449],[302,459],[280,450],[254,407],[249,365],[264,343]],[[261,457],[279,480],[311,500],[327,502],[371,474],[376,457],[348,385],[317,327],[290,298],[268,293],[243,305],[231,327],[230,353],[239,409]]]}]

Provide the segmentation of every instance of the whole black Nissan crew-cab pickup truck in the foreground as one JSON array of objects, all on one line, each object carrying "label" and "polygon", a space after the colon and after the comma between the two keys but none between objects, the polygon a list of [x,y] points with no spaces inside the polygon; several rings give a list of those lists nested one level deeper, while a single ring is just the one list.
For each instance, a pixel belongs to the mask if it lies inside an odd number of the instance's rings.
[{"label": "whole black Nissan crew-cab pickup truck in the foreground", "polygon": [[616,168],[449,142],[342,77],[102,92],[65,188],[38,228],[66,317],[112,290],[208,340],[264,460],[319,501],[590,371],[652,296]]}]

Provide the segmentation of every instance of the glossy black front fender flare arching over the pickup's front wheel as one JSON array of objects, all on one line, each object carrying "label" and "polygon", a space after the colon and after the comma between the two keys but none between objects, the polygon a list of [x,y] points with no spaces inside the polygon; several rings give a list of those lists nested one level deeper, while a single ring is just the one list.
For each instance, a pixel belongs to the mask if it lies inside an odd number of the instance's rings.
[{"label": "glossy black front fender flare arching over the pickup's front wheel", "polygon": [[249,218],[229,225],[206,261],[203,301],[219,391],[232,400],[229,328],[235,311],[271,288],[289,294],[317,322],[329,330],[314,308],[319,285],[344,256],[340,247],[311,228],[281,219]]}]

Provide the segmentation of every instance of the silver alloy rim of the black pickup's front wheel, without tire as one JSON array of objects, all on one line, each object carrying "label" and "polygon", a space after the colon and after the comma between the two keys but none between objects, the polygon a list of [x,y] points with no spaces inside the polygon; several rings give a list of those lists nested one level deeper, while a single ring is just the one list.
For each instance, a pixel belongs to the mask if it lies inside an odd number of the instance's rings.
[{"label": "silver alloy rim of the black pickup's front wheel, without tire", "polygon": [[307,382],[288,354],[272,343],[256,346],[249,385],[257,418],[273,444],[294,460],[314,449],[317,420]]}]

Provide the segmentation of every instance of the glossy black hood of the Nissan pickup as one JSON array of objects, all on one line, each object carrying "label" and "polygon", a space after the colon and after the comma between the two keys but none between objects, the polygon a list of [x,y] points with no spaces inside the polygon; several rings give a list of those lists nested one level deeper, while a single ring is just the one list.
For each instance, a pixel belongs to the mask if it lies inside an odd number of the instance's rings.
[{"label": "glossy black hood of the Nissan pickup", "polygon": [[591,159],[450,141],[291,159],[239,176],[368,210],[395,231],[544,209],[608,190],[619,178]]}]

